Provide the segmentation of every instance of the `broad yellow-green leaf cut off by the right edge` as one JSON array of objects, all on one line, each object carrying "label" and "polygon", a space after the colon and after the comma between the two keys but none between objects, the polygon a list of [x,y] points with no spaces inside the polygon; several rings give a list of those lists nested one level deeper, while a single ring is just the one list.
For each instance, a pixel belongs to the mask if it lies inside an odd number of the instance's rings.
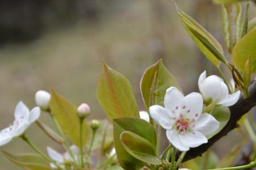
[{"label": "broad yellow-green leaf cut off by the right edge", "polygon": [[233,50],[233,62],[243,70],[246,60],[251,58],[251,73],[256,73],[256,29],[247,33],[237,44]]}]

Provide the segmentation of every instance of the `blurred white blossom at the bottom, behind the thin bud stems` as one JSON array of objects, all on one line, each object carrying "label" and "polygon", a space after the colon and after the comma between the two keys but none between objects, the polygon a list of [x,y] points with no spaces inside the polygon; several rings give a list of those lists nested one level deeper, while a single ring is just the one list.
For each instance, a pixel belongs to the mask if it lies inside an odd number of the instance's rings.
[{"label": "blurred white blossom at the bottom, behind the thin bud stems", "polygon": [[[70,150],[72,151],[73,155],[75,156],[76,161],[79,161],[79,155],[80,155],[80,150],[78,147],[76,147],[75,145],[72,145],[70,147]],[[60,154],[59,152],[57,152],[56,150],[54,150],[51,147],[47,147],[47,153],[49,158],[51,158],[52,160],[54,160],[61,168],[65,168],[64,167],[64,163],[65,162],[73,162],[73,158],[71,157],[71,155],[69,155],[68,152],[65,152],[64,154]],[[57,167],[54,164],[50,164],[52,169],[57,169]]]}]

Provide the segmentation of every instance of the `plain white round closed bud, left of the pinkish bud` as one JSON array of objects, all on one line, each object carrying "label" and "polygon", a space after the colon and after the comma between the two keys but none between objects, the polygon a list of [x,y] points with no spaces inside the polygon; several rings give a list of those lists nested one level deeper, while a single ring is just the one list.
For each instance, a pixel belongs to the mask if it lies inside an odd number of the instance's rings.
[{"label": "plain white round closed bud, left of the pinkish bud", "polygon": [[49,100],[51,99],[51,95],[44,90],[39,90],[35,94],[35,102],[40,108],[47,110],[49,109]]}]

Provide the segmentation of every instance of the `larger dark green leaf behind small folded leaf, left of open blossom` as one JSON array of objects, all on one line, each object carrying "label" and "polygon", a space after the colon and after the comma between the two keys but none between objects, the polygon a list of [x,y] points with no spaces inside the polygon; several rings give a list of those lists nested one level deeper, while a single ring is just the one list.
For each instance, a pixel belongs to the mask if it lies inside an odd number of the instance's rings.
[{"label": "larger dark green leaf behind small folded leaf, left of open blossom", "polygon": [[115,151],[121,167],[128,170],[142,168],[146,163],[134,158],[125,150],[120,140],[120,135],[123,131],[131,131],[147,140],[155,148],[156,133],[154,126],[141,118],[121,117],[113,120],[113,127]]}]

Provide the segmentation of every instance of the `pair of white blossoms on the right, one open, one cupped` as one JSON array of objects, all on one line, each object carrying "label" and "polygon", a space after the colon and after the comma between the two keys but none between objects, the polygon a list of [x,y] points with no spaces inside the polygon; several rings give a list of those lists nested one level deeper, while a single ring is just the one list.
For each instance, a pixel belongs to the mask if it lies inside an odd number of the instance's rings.
[{"label": "pair of white blossoms on the right, one open, one cupped", "polygon": [[229,107],[235,104],[240,91],[229,94],[228,86],[216,76],[206,77],[204,71],[198,80],[199,92],[184,96],[176,87],[170,87],[164,96],[164,107],[152,105],[151,117],[166,129],[171,144],[180,151],[207,143],[207,135],[214,133],[220,122],[211,114],[204,112],[209,105]]}]

